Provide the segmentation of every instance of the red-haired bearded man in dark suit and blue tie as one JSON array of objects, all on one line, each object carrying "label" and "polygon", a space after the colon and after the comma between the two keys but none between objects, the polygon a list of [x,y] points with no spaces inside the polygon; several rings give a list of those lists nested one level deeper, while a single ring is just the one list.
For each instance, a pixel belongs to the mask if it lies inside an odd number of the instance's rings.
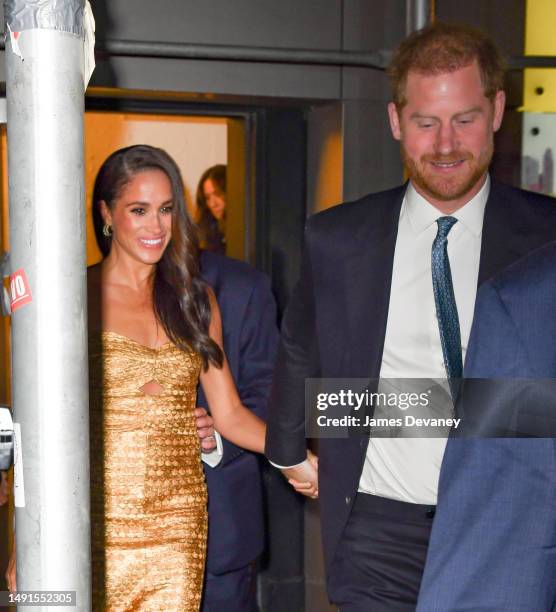
[{"label": "red-haired bearded man in dark suit and blue tie", "polygon": [[[305,379],[444,378],[455,395],[477,285],[556,238],[549,198],[489,178],[505,98],[487,37],[437,23],[400,45],[390,76],[410,181],[309,220],[282,324],[266,453],[308,493]],[[445,445],[426,432],[320,440],[327,585],[342,612],[415,609]]]}]

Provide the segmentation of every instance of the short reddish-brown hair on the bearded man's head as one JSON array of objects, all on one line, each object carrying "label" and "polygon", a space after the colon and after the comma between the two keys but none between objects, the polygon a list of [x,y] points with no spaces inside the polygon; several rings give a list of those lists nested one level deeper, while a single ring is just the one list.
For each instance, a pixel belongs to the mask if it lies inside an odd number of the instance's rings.
[{"label": "short reddish-brown hair on the bearded man's head", "polygon": [[504,87],[504,61],[496,45],[471,26],[436,22],[410,34],[394,52],[388,76],[398,110],[406,104],[409,72],[437,75],[454,72],[477,61],[485,96],[493,100]]}]

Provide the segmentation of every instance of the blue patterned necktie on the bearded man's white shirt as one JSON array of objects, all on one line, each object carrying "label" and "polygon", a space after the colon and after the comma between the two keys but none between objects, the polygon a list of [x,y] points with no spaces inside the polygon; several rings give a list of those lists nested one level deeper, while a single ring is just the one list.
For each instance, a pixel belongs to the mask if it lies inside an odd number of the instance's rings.
[{"label": "blue patterned necktie on the bearded man's white shirt", "polygon": [[438,233],[432,243],[432,287],[436,304],[436,317],[440,330],[440,342],[444,355],[444,366],[450,383],[452,398],[456,399],[459,379],[463,372],[461,359],[461,336],[459,317],[450,260],[448,259],[448,233],[457,223],[454,217],[440,217],[436,220]]}]

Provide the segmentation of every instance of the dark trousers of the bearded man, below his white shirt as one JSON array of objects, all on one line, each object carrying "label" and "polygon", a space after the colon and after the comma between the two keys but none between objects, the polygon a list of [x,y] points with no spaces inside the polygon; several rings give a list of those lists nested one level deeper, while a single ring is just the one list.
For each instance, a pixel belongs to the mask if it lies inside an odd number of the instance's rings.
[{"label": "dark trousers of the bearded man, below his white shirt", "polygon": [[340,612],[413,612],[434,508],[358,493],[328,577]]}]

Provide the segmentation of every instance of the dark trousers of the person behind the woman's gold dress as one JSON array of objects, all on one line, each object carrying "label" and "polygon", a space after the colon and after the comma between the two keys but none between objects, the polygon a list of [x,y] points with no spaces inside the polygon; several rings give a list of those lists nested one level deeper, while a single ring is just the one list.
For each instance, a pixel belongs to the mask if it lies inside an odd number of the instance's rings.
[{"label": "dark trousers of the person behind the woman's gold dress", "polygon": [[254,565],[226,574],[205,572],[201,612],[258,612]]}]

